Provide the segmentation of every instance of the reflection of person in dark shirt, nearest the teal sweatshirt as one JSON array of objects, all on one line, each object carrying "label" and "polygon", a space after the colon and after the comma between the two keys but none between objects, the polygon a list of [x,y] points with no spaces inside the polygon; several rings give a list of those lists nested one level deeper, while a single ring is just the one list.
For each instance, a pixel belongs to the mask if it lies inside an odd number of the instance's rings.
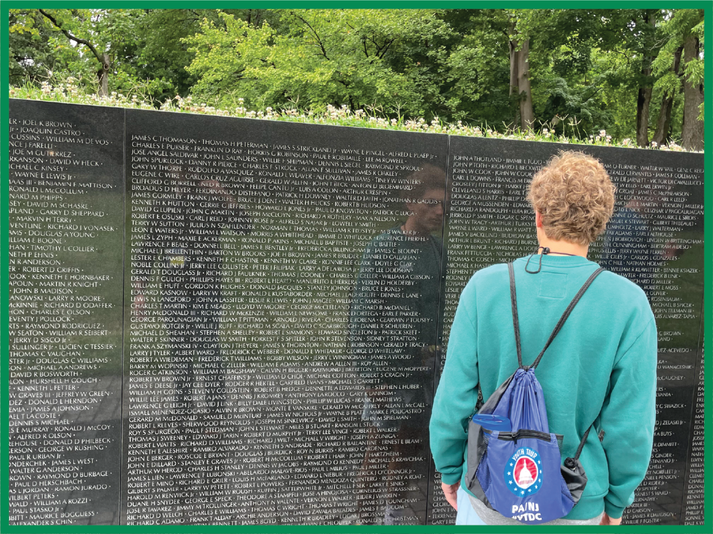
[{"label": "reflection of person in dark shirt, nearest the teal sweatshirt", "polygon": [[356,488],[361,524],[415,522],[405,501],[419,488],[409,487],[414,462],[404,459],[425,451],[440,351],[446,176],[426,166],[407,184],[409,216],[366,246],[350,312],[354,365],[369,384],[362,414],[369,434]]}]

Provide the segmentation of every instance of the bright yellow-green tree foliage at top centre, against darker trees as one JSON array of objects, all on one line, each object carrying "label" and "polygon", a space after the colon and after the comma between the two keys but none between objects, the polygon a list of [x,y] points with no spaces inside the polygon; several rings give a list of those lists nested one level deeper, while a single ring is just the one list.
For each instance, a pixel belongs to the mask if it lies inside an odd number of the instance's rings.
[{"label": "bright yellow-green tree foliage at top centre, against darker trees", "polygon": [[[432,45],[450,28],[427,10],[287,10],[278,33],[220,14],[185,38],[195,53],[188,71],[204,98],[233,95],[265,106],[381,105],[425,113],[437,87],[415,56],[438,61]],[[429,46],[429,42],[431,45]],[[225,98],[225,97],[224,97]]]}]

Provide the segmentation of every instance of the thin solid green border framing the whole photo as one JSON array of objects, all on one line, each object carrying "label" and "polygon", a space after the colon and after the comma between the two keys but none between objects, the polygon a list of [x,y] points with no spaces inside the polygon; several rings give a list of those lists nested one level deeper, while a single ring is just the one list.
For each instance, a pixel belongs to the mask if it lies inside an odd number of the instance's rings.
[{"label": "thin solid green border framing the whole photo", "polygon": [[[34,3],[34,2],[33,2]],[[335,7],[335,4],[339,7],[354,7],[354,8],[372,8],[372,9],[383,9],[383,8],[401,8],[401,9],[414,9],[414,8],[429,8],[434,7],[434,4],[438,4],[434,0],[416,0],[416,1],[404,1],[404,0],[386,0],[386,1],[374,1],[374,0],[364,0],[361,2],[347,1],[339,2],[335,0],[258,0],[255,2],[257,4],[263,4],[263,7],[268,7],[271,9],[279,9],[285,7],[294,8],[329,8]],[[622,3],[627,4],[626,7],[645,7],[647,9],[652,8],[648,2],[642,1],[604,1],[603,3],[597,3],[594,1],[585,2],[584,7],[589,7],[591,9],[620,9],[622,8]],[[29,2],[26,1],[14,1],[9,0],[4,3],[5,9],[13,8],[25,8]],[[45,7],[52,8],[90,8],[95,7],[97,4],[102,4],[103,8],[133,8],[133,9],[161,9],[161,8],[176,8],[176,7],[195,7],[196,1],[168,1],[168,0],[145,0],[141,2],[132,0],[113,0],[113,1],[58,1],[58,0],[48,0],[43,2]],[[207,2],[201,6],[202,9],[220,9],[227,7],[236,7],[235,5],[226,6],[228,4],[225,1],[222,2]],[[240,2],[242,5],[254,4],[253,2]],[[342,5],[339,5],[342,4]],[[346,5],[345,5],[346,4]],[[473,1],[447,1],[446,5],[438,6],[439,8],[448,9],[466,9],[473,8]],[[553,9],[568,9],[572,7],[571,1],[563,0],[540,0],[534,2],[525,2],[523,0],[514,1],[491,1],[483,4],[490,4],[488,7],[493,7],[493,4],[500,4],[498,7],[508,8],[508,9],[535,9],[535,8],[553,8]],[[578,6],[583,7],[583,6]],[[682,5],[676,6],[677,8],[689,8],[689,9],[700,9],[705,10],[704,14],[709,16],[712,13],[709,1],[702,0],[687,0],[682,1]],[[662,6],[662,9],[663,6]],[[709,46],[713,44],[713,24],[709,24],[705,28],[705,38],[709,43]],[[9,46],[9,34],[8,34],[8,19],[4,16],[0,17],[0,50],[8,50],[6,48]],[[7,56],[6,56],[7,57]],[[1,64],[1,63],[0,63]],[[9,72],[7,66],[0,67],[0,121],[4,125],[8,125],[9,122]],[[705,56],[705,80],[706,83],[710,83],[713,80],[713,54],[709,53]],[[707,177],[704,184],[704,340],[709,342],[713,339],[711,337],[713,331],[712,323],[712,292],[713,292],[713,183],[710,174],[713,172],[713,99],[711,97],[710,88],[704,93],[705,102],[705,146],[709,147],[704,154],[704,165],[705,174]],[[234,532],[255,532],[255,533],[269,533],[269,532],[354,532],[354,533],[436,533],[436,532],[452,532],[452,533],[466,533],[466,532],[478,532],[478,533],[506,533],[506,532],[523,532],[523,530],[533,530],[536,532],[575,532],[575,533],[595,533],[609,531],[609,532],[622,532],[622,533],[710,533],[713,527],[713,484],[707,483],[704,490],[704,513],[705,513],[705,524],[704,525],[626,525],[619,527],[607,527],[603,528],[598,526],[581,526],[581,527],[539,527],[539,526],[529,526],[529,527],[495,527],[495,526],[342,526],[334,527],[332,525],[162,525],[162,526],[128,526],[128,525],[112,525],[112,526],[75,526],[75,525],[49,525],[49,526],[37,526],[37,525],[27,525],[27,526],[11,526],[8,523],[9,515],[9,502],[6,498],[9,491],[9,481],[7,478],[7,466],[9,465],[9,454],[7,447],[9,439],[9,420],[7,418],[7,407],[9,405],[9,384],[6,377],[9,373],[8,367],[8,343],[9,337],[6,325],[9,324],[9,313],[8,313],[8,292],[9,292],[9,278],[8,270],[8,226],[9,226],[9,204],[8,204],[8,187],[9,187],[9,169],[8,169],[8,154],[9,154],[9,130],[8,128],[2,127],[0,130],[0,147],[2,152],[0,152],[0,264],[3,266],[0,271],[0,531],[6,533],[188,533],[188,532],[224,532],[224,533],[234,533]],[[713,469],[713,447],[710,442],[713,438],[713,405],[710,402],[712,386],[711,383],[711,356],[710,352],[704,358],[706,362],[706,370],[704,372],[704,387],[705,387],[705,441],[704,441],[704,459],[706,464],[706,469]]]}]

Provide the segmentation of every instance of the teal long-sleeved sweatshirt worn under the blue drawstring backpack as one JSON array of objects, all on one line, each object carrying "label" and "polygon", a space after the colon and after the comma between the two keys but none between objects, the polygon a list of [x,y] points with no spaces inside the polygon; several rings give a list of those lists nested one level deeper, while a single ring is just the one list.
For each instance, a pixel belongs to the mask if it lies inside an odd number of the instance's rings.
[{"label": "teal long-sleeved sweatshirt worn under the blue drawstring backpack", "polygon": [[[528,268],[536,271],[540,256]],[[575,293],[595,271],[581,256],[543,256],[542,271],[515,260],[523,364],[530,365]],[[619,518],[634,500],[651,457],[656,419],[657,333],[645,293],[601,273],[576,305],[535,370],[550,432],[574,456],[592,422],[580,461],[588,483],[568,519],[606,511]],[[478,271],[461,293],[431,415],[431,452],[442,481],[465,486],[468,419],[480,382],[483,399],[518,368],[508,267]],[[604,431],[603,441],[597,437]]]}]

